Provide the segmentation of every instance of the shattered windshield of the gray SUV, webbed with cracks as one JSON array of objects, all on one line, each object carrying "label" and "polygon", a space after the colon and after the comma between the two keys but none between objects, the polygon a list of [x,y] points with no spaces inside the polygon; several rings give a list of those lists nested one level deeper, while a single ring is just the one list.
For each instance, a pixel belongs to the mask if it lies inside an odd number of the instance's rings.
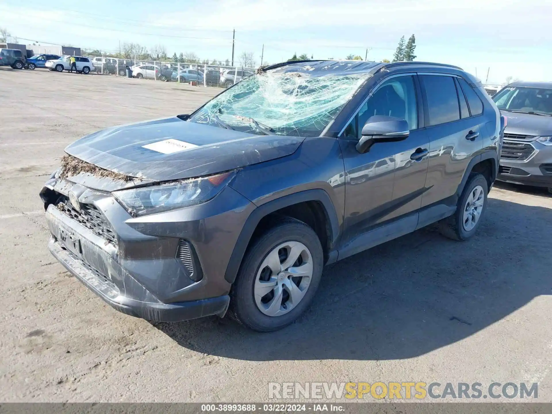
[{"label": "shattered windshield of the gray SUV, webbed with cracks", "polygon": [[319,136],[366,79],[366,73],[261,72],[210,100],[188,121],[257,135]]}]

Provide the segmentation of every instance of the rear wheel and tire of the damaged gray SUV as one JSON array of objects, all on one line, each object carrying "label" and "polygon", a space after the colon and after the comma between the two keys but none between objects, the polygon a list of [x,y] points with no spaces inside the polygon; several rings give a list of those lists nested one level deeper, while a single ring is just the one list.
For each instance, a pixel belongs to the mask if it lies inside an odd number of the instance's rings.
[{"label": "rear wheel and tire of the damaged gray SUV", "polygon": [[487,179],[471,173],[458,200],[456,213],[438,222],[439,232],[452,240],[468,240],[479,227],[487,209]]}]

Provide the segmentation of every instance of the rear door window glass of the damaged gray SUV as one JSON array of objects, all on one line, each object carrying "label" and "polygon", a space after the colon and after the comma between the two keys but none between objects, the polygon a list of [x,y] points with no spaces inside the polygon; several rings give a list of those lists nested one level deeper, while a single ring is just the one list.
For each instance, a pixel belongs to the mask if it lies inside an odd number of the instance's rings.
[{"label": "rear door window glass of the damaged gray SUV", "polygon": [[452,76],[420,75],[426,91],[428,125],[445,124],[460,119],[460,106]]}]

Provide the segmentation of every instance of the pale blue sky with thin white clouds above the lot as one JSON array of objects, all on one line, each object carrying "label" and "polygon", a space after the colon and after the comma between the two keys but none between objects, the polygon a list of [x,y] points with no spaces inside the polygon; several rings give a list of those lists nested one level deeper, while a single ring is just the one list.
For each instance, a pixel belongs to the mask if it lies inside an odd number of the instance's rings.
[{"label": "pale blue sky with thin white clouds above the lot", "polygon": [[[118,52],[163,45],[167,54],[257,65],[289,59],[392,59],[402,35],[416,60],[457,65],[483,82],[552,81],[551,0],[0,0],[0,27],[19,43]],[[264,53],[263,53],[264,44]],[[487,72],[489,73],[487,78]]]}]

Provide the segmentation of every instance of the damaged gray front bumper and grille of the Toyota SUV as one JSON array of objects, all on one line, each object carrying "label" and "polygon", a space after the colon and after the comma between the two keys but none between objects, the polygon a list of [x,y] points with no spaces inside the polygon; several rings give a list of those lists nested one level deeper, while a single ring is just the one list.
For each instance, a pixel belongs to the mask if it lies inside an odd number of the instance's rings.
[{"label": "damaged gray front bumper and grille of the Toyota SUV", "polygon": [[[250,202],[234,190],[223,190],[216,204],[138,219],[110,193],[64,179],[50,181],[41,195],[47,207],[50,252],[116,310],[162,322],[224,316],[230,284],[224,279],[227,262],[220,259],[230,255],[233,241],[209,235],[232,223],[229,216],[235,211],[209,215],[221,205],[243,212]],[[70,197],[81,203],[80,210],[71,207]],[[189,261],[181,253],[184,245]],[[219,252],[216,259],[213,252]]]}]

